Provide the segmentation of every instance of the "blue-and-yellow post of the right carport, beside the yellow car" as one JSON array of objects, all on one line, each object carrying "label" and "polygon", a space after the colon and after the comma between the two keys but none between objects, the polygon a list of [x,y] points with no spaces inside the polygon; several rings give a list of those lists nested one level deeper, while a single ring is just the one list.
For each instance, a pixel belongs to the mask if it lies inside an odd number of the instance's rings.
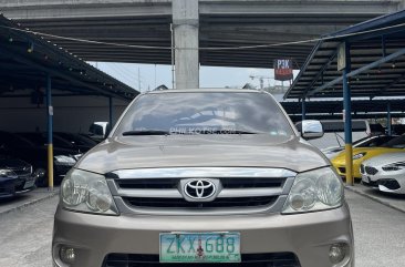
[{"label": "blue-and-yellow post of the right carport, beside the yellow car", "polygon": [[343,70],[343,105],[344,105],[344,141],[345,141],[345,163],[346,184],[353,183],[353,148],[352,148],[352,103],[351,90],[347,73],[351,71],[350,45],[345,43],[346,65]]}]

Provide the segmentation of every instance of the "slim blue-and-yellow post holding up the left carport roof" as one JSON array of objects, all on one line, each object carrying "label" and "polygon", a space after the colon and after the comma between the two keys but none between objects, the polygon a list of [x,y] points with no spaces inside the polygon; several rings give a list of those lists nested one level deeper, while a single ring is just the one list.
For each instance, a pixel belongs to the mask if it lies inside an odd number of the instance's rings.
[{"label": "slim blue-and-yellow post holding up the left carport roof", "polygon": [[46,109],[48,109],[48,188],[53,191],[53,106],[52,80],[46,75]]}]

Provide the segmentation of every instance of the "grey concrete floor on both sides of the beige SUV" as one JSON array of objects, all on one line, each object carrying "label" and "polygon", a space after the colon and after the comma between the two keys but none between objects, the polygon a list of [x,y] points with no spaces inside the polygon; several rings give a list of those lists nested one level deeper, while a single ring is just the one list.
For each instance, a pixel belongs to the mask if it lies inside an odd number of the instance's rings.
[{"label": "grey concrete floor on both sides of the beige SUV", "polygon": [[[346,191],[354,226],[356,267],[404,266],[405,213]],[[0,266],[51,267],[58,197],[0,214]]]}]

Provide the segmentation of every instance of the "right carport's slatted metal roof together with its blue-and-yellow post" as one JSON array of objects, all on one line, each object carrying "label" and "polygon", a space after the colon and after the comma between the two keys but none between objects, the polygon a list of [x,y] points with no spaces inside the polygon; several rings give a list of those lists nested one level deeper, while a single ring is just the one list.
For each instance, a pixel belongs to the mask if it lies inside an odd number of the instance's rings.
[{"label": "right carport's slatted metal roof together with its blue-and-yellow post", "polygon": [[[284,95],[284,99],[300,99],[302,106],[309,97],[343,96],[350,184],[353,184],[352,97],[405,96],[404,43],[405,10],[324,35]],[[391,104],[387,111],[390,129]]]}]

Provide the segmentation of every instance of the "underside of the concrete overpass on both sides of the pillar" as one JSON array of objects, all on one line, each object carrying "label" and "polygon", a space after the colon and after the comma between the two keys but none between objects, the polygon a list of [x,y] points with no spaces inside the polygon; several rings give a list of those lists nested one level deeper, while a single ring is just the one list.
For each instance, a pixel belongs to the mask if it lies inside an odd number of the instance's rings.
[{"label": "underside of the concrete overpass on both sides of the pillar", "polygon": [[[224,48],[319,38],[404,8],[403,0],[200,0],[199,45]],[[170,0],[0,0],[6,17],[39,32],[114,47],[45,37],[86,61],[170,64]],[[304,63],[315,42],[273,48],[200,50],[201,65],[271,68],[276,58]]]}]

